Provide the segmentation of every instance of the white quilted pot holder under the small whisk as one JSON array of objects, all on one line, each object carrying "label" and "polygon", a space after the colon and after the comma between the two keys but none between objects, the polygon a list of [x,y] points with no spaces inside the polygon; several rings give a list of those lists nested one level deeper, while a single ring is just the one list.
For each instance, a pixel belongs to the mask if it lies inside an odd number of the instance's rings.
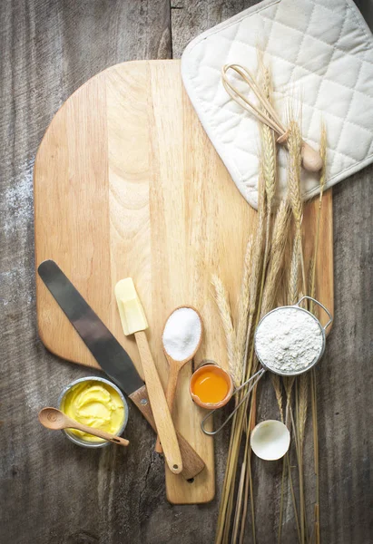
[{"label": "white quilted pot holder under the small whisk", "polygon": [[[264,0],[195,38],[182,55],[191,102],[241,194],[258,204],[258,121],[233,102],[221,66],[257,67],[257,46],[273,76],[276,109],[286,123],[300,97],[303,138],[318,149],[328,132],[327,187],[373,160],[373,36],[352,0]],[[280,193],[287,151],[280,147]],[[305,199],[319,175],[302,170]]]}]

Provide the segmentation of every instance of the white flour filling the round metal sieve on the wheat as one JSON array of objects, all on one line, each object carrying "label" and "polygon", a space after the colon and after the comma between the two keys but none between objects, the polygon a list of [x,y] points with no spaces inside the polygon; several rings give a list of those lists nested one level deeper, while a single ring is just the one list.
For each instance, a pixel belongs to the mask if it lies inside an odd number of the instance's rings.
[{"label": "white flour filling the round metal sieve on the wheat", "polygon": [[284,307],[265,316],[255,336],[260,360],[275,372],[300,372],[319,358],[323,336],[312,316]]}]

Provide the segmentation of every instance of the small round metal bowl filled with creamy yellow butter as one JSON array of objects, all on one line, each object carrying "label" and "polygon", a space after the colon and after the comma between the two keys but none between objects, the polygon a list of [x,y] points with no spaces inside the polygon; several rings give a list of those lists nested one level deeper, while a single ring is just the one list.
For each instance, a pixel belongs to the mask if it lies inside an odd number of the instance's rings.
[{"label": "small round metal bowl filled with creamy yellow butter", "polygon": [[[105,378],[87,376],[64,387],[58,399],[62,412],[75,421],[120,436],[128,421],[128,405],[122,391]],[[67,438],[85,448],[109,445],[101,438],[73,429],[63,431]]]}]

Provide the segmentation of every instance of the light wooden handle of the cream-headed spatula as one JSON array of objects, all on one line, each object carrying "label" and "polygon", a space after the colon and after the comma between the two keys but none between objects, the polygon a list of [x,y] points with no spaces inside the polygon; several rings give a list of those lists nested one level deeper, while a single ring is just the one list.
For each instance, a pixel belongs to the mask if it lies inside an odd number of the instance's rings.
[{"label": "light wooden handle of the cream-headed spatula", "polygon": [[152,358],[145,331],[134,333],[140,358],[146,388],[152,405],[155,425],[162,441],[164,458],[170,471],[174,474],[182,472],[182,453],[172,422],[172,415],[163,391],[161,379]]}]

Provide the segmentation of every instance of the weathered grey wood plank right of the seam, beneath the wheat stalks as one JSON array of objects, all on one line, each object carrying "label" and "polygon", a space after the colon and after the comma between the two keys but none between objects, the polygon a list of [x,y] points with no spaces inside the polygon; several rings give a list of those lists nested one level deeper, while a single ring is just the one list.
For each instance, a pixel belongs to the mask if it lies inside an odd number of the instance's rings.
[{"label": "weathered grey wood plank right of the seam, beneath the wheat stalks", "polygon": [[[172,3],[172,53],[180,56],[184,47],[204,30],[219,24],[240,10],[258,2],[211,0]],[[369,5],[359,3],[368,15]],[[363,11],[364,13],[364,11]],[[328,544],[370,542],[369,501],[371,495],[370,456],[372,439],[368,425],[373,411],[371,331],[372,288],[372,184],[373,167],[343,181],[333,192],[335,323],[327,353],[318,368],[319,442],[321,485],[321,538]],[[278,418],[274,393],[261,384],[259,419]],[[226,443],[226,442],[225,442]],[[224,464],[225,443],[220,442],[218,466]],[[306,436],[306,480],[312,490],[312,438]],[[281,463],[254,459],[257,541],[277,541],[280,510]],[[218,495],[221,478],[218,478]],[[310,495],[313,499],[313,495]],[[307,505],[309,519],[313,500]],[[293,511],[286,504],[283,541],[296,542]],[[250,542],[250,520],[245,542]]]}]

